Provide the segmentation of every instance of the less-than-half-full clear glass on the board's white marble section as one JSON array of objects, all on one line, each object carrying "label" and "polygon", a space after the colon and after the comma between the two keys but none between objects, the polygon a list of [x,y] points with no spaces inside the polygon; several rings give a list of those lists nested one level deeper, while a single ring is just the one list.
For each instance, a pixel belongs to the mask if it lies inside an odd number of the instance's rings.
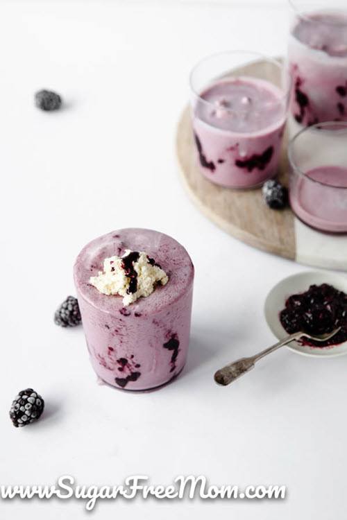
[{"label": "less-than-half-full clear glass on the board's white marble section", "polygon": [[347,123],[303,128],[288,148],[291,209],[325,232],[347,232]]}]

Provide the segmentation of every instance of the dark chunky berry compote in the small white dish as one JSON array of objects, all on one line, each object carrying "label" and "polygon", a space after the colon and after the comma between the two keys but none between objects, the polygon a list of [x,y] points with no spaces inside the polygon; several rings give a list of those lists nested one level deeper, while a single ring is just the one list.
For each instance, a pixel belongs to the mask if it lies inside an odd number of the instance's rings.
[{"label": "dark chunky berry compote in the small white dish", "polygon": [[293,334],[304,331],[312,335],[341,330],[327,341],[301,338],[302,345],[328,347],[347,340],[347,295],[328,284],[311,285],[308,291],[291,295],[280,311],[282,327]]}]

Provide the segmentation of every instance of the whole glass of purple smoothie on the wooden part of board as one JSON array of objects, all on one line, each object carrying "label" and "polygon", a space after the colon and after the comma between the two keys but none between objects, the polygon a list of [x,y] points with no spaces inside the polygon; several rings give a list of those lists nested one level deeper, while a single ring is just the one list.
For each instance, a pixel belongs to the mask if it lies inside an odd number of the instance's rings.
[{"label": "whole glass of purple smoothie on the wooden part of board", "polygon": [[248,51],[214,54],[194,67],[192,126],[208,180],[252,188],[278,173],[289,84],[279,62]]}]

